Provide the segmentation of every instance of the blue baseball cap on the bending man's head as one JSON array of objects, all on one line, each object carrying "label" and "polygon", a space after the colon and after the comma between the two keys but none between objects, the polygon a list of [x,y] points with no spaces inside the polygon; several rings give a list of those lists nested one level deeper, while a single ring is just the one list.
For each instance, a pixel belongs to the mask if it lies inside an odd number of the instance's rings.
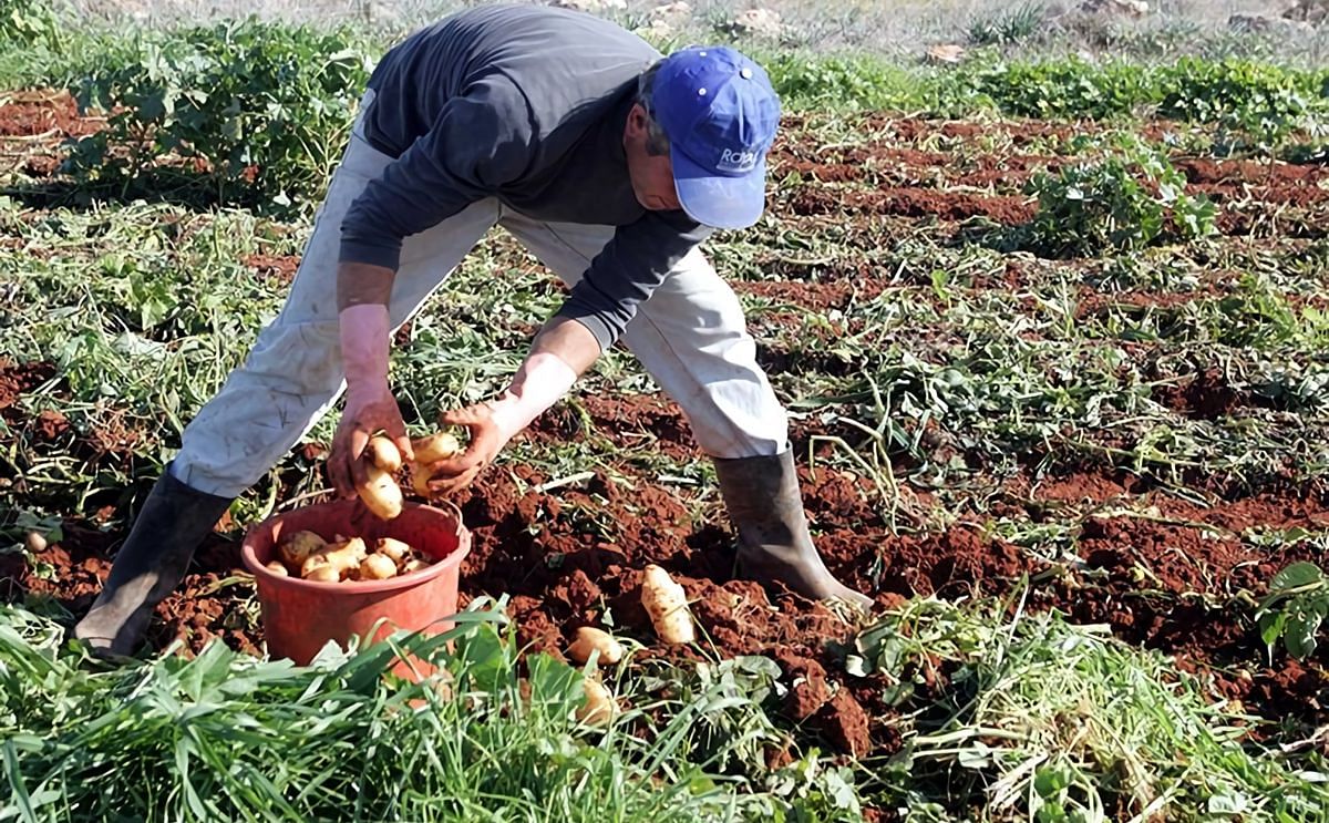
[{"label": "blue baseball cap on the bending man's head", "polygon": [[766,207],[766,153],[780,98],[766,70],[727,47],[688,47],[655,73],[651,117],[670,140],[674,187],[688,217],[746,229]]}]

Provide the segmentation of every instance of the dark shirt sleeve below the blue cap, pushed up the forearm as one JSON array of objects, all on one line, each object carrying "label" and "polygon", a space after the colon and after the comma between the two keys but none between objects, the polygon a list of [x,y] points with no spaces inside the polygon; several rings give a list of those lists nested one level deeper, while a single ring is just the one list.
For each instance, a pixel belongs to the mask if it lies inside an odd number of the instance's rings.
[{"label": "dark shirt sleeve below the blue cap, pushed up the forearm", "polygon": [[712,231],[682,211],[647,211],[637,222],[619,226],[573,287],[558,316],[578,320],[595,335],[599,350],[607,351],[642,300]]}]

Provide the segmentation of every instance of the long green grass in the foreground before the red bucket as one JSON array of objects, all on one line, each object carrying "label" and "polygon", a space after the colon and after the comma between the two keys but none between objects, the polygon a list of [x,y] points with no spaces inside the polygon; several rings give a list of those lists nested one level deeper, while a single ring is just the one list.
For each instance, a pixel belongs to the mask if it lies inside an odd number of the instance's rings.
[{"label": "long green grass in the foreground before the red bucket", "polygon": [[[715,772],[724,741],[706,766],[690,761],[698,723],[750,703],[716,683],[583,726],[582,673],[544,654],[518,662],[484,606],[447,634],[330,646],[310,666],[214,642],[106,669],[60,625],[0,605],[0,819],[690,822],[807,819],[796,810],[832,804],[832,790],[855,802],[815,776],[742,791]],[[400,655],[440,674],[385,674]]]}]

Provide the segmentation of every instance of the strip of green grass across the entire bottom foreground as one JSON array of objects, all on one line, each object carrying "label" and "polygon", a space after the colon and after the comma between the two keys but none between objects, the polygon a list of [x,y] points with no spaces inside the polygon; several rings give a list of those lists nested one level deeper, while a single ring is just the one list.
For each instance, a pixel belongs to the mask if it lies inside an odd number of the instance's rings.
[{"label": "strip of green grass across the entire bottom foreground", "polygon": [[[789,686],[769,661],[625,673],[623,711],[597,730],[573,718],[581,674],[542,655],[518,666],[484,605],[448,636],[330,649],[304,669],[221,644],[106,669],[5,606],[0,819],[853,820],[870,800],[937,822],[1312,820],[1329,802],[1314,750],[1249,742],[1260,718],[1055,614],[888,612],[845,667],[888,673],[900,750],[851,770],[813,749],[768,771],[763,751],[788,733],[767,711]],[[383,675],[397,653],[448,675]]]}]

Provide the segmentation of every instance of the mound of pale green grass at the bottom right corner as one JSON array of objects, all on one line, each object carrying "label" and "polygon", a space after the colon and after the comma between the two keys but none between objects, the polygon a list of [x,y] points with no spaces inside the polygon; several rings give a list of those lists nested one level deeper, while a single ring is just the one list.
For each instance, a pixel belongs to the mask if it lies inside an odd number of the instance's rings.
[{"label": "mound of pale green grass at the bottom right corner", "polygon": [[941,694],[902,693],[896,779],[949,807],[982,804],[990,820],[1296,820],[1324,808],[1318,758],[1297,768],[1260,753],[1243,718],[1163,655],[1022,605],[916,600],[860,634],[852,670],[949,681]]}]

